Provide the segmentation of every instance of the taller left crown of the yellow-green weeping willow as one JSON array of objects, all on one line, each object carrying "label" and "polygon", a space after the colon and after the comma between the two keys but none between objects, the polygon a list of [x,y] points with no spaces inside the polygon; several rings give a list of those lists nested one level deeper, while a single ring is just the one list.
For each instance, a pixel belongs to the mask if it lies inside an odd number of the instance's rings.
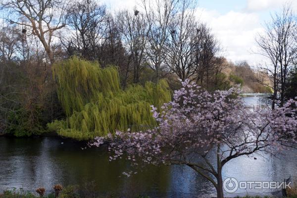
[{"label": "taller left crown of the yellow-green weeping willow", "polygon": [[100,68],[97,62],[73,57],[52,67],[57,80],[58,97],[67,116],[81,111],[85,104],[97,101],[98,94],[120,91],[117,67]]}]

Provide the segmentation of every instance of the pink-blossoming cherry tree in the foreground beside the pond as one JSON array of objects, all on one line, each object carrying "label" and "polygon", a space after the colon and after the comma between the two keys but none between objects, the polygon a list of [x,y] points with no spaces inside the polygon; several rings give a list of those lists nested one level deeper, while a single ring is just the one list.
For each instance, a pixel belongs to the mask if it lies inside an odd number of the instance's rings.
[{"label": "pink-blossoming cherry tree in the foreground beside the pond", "polygon": [[[189,80],[182,85],[161,113],[152,107],[158,127],[117,131],[115,136],[96,137],[90,146],[107,141],[110,160],[125,156],[133,165],[187,165],[213,184],[218,198],[224,196],[222,167],[231,159],[295,147],[297,101],[274,110],[250,108],[237,87],[210,93]],[[215,155],[215,163],[210,155]]]}]

